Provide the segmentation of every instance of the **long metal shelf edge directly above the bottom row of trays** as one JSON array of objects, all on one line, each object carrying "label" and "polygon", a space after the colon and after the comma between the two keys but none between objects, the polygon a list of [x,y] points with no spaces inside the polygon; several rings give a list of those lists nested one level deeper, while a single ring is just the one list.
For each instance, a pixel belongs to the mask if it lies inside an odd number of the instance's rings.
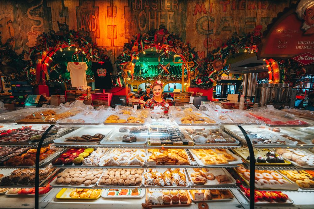
[{"label": "long metal shelf edge directly above the bottom row of trays", "polygon": [[[174,187],[168,187],[165,188],[164,186],[154,186],[154,187],[146,187],[144,185],[139,186],[139,187],[134,187],[134,186],[93,186],[89,189],[240,189],[238,186],[236,185],[229,185],[229,186],[224,186],[224,185],[191,185],[192,183],[189,183],[188,187],[180,187],[180,186],[174,186]],[[50,185],[51,186],[51,185]],[[60,185],[60,186],[51,186],[52,188],[69,188],[69,189],[73,189],[73,188],[83,188],[86,189],[85,186],[65,186],[65,185]]]}]

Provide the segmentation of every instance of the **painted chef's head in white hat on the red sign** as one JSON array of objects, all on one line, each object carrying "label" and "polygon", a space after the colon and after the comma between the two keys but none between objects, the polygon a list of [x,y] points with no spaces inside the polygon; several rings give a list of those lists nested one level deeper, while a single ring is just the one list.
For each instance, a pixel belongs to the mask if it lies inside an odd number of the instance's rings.
[{"label": "painted chef's head in white hat on the red sign", "polygon": [[314,34],[314,1],[313,0],[301,0],[295,10],[298,18],[303,20],[301,30],[305,35]]}]

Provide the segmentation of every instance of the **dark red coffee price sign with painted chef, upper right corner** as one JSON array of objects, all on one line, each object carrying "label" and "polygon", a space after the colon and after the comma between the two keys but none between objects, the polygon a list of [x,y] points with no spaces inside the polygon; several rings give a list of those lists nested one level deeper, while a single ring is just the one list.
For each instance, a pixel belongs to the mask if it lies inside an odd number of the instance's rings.
[{"label": "dark red coffee price sign with painted chef, upper right corner", "polygon": [[257,57],[292,58],[306,52],[313,54],[313,25],[314,1],[301,0],[298,5],[286,8],[274,20],[271,28],[264,32]]}]

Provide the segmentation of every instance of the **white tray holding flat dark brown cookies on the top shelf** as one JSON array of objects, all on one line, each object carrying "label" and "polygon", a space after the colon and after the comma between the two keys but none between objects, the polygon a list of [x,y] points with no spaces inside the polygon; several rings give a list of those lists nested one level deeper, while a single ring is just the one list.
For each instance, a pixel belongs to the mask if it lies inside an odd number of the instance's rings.
[{"label": "white tray holding flat dark brown cookies on the top shelf", "polygon": [[[74,131],[72,131],[71,133],[68,133],[67,135],[64,135],[60,138],[57,138],[55,140],[53,140],[53,142],[58,145],[58,144],[66,144],[66,145],[75,145],[75,146],[80,146],[80,145],[97,145],[99,144],[99,142],[73,142],[73,141],[67,141],[65,138],[68,137],[73,137],[73,136],[82,136],[85,134],[89,134],[89,135],[94,135],[96,133],[109,133],[110,132],[110,128],[105,128],[105,127],[82,127],[82,128],[78,128]],[[106,134],[105,134],[106,135]]]}]

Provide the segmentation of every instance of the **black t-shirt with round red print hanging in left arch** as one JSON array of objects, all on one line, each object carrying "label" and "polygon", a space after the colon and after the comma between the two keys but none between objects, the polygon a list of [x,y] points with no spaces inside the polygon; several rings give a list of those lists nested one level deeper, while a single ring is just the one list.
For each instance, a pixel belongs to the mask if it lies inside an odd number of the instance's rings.
[{"label": "black t-shirt with round red print hanging in left arch", "polygon": [[92,62],[92,71],[95,76],[96,89],[111,89],[111,75],[113,67],[111,61]]}]

